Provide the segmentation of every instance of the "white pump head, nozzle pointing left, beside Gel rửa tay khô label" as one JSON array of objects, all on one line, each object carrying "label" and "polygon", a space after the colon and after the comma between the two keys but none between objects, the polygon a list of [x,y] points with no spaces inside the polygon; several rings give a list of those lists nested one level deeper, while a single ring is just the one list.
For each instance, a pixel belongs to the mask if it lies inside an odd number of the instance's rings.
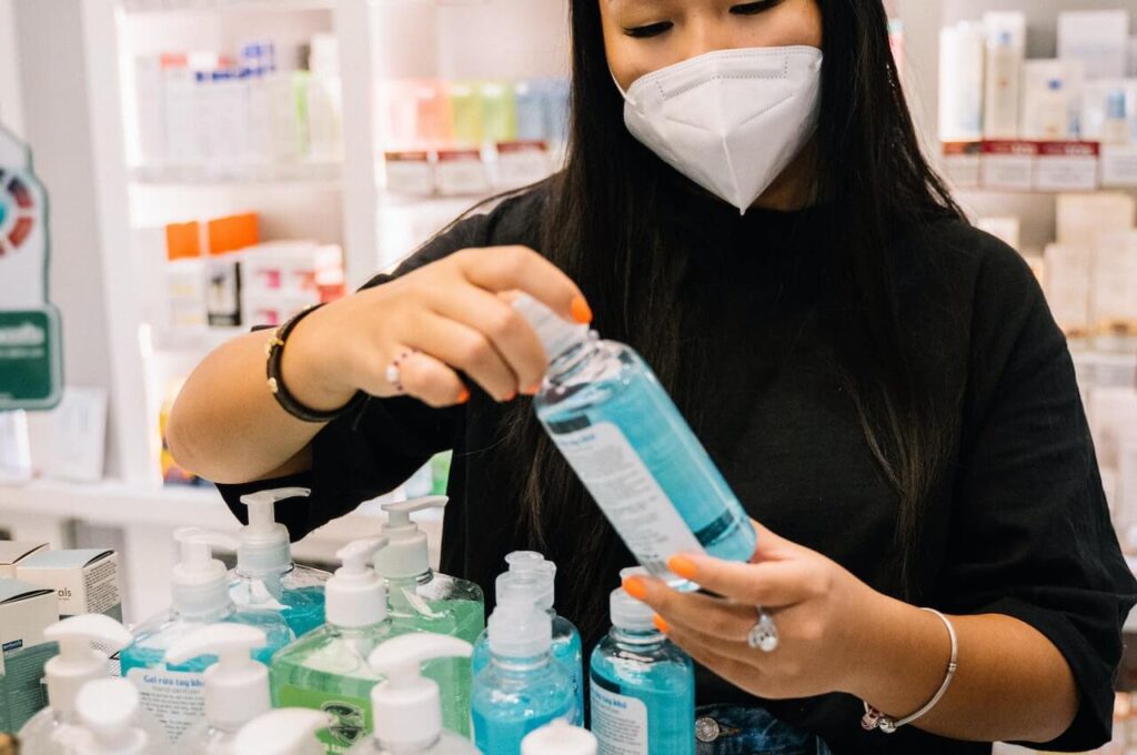
[{"label": "white pump head, nozzle pointing left, beside Gel r\u1eeda tay kh\u00f4 label", "polygon": [[248,624],[209,624],[175,640],[166,650],[167,663],[185,663],[201,655],[216,655],[205,670],[206,720],[233,731],[272,707],[268,669],[250,657],[267,644],[265,630]]}]

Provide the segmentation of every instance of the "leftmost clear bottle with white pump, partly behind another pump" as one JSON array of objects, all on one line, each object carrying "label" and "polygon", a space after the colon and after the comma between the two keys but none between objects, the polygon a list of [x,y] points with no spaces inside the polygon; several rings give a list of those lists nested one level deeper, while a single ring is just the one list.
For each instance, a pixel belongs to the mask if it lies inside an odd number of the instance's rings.
[{"label": "leftmost clear bottle with white pump, partly behind another pump", "polygon": [[[107,655],[96,648],[116,653],[130,645],[133,636],[110,616],[82,614],[48,627],[43,637],[59,644],[59,655],[43,667],[48,707],[19,730],[20,752],[24,755],[66,755],[81,730],[75,711],[78,690],[89,681],[109,677]],[[139,720],[152,740],[160,741],[166,736],[152,716],[143,715]]]}]

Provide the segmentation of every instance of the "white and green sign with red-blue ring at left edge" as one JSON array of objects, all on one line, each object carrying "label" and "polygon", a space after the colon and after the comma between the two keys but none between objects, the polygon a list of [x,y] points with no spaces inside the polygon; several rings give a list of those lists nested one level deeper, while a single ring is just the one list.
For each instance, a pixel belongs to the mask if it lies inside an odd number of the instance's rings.
[{"label": "white and green sign with red-blue ring at left edge", "polygon": [[63,391],[59,313],[48,301],[48,197],[32,154],[0,126],[0,412],[49,409]]}]

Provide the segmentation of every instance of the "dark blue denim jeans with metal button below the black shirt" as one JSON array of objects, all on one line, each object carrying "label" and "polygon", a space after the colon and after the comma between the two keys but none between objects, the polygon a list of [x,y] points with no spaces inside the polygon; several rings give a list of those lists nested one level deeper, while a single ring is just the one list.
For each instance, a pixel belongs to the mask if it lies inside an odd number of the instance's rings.
[{"label": "dark blue denim jeans with metal button below the black shirt", "polygon": [[763,708],[708,705],[695,719],[698,755],[831,755],[820,737]]}]

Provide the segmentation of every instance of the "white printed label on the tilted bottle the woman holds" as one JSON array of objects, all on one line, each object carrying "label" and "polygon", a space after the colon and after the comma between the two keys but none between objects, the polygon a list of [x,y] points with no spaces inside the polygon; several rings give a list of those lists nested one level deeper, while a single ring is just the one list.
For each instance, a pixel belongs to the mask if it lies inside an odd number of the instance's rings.
[{"label": "white printed label on the tilted bottle the woman holds", "polygon": [[549,434],[628,549],[649,572],[670,574],[667,559],[677,553],[703,553],[703,546],[616,425],[599,422]]}]

